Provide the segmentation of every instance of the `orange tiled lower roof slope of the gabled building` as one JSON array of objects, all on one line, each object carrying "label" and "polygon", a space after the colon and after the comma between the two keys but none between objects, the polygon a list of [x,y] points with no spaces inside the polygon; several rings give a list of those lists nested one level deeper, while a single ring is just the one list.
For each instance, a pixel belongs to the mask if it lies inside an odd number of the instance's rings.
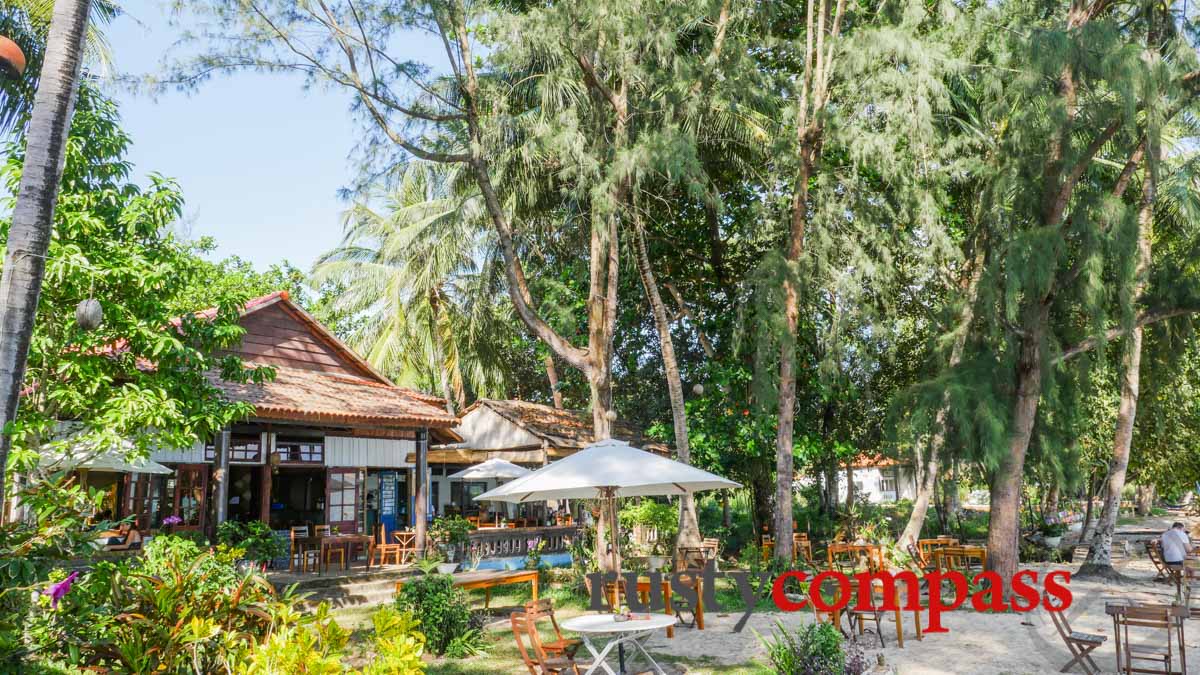
[{"label": "orange tiled lower roof slope of the gabled building", "polygon": [[210,381],[264,418],[444,429],[458,423],[430,396],[401,387],[294,368],[275,366],[275,374],[264,384],[226,382],[216,375]]}]

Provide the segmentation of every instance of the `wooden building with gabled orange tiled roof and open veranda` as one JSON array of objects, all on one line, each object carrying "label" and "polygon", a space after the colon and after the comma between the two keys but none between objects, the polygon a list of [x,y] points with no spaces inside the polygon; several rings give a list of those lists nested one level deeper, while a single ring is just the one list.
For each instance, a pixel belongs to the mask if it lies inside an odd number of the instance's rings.
[{"label": "wooden building with gabled orange tiled roof and open veranda", "polygon": [[174,473],[128,474],[120,514],[134,514],[143,530],[174,515],[176,528],[209,532],[226,519],[342,532],[421,520],[428,446],[460,440],[443,401],[396,387],[287,292],[247,303],[241,325],[234,352],[248,365],[274,366],[275,378],[212,382],[253,405],[253,417],[191,448],[154,453]]}]

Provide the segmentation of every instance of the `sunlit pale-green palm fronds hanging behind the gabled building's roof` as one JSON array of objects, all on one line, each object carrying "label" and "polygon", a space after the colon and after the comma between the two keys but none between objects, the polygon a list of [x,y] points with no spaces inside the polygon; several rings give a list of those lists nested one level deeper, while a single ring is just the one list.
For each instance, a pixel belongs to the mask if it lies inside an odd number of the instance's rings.
[{"label": "sunlit pale-green palm fronds hanging behind the gabled building's roof", "polygon": [[338,310],[366,318],[350,344],[397,382],[439,390],[451,413],[468,389],[503,392],[499,353],[512,325],[494,238],[464,178],[454,166],[409,163],[382,211],[347,211],[342,244],[312,273],[313,283],[346,288]]}]

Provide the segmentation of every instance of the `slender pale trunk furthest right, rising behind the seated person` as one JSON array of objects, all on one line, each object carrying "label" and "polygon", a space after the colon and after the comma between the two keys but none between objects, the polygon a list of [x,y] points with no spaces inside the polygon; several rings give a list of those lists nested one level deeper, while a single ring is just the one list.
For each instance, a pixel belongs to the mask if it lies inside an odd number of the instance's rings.
[{"label": "slender pale trunk furthest right, rising behind the seated person", "polygon": [[[1151,157],[1153,148],[1146,153],[1142,177],[1141,207],[1138,213],[1138,269],[1134,300],[1141,295],[1146,286],[1151,261],[1151,234],[1154,225],[1154,198],[1157,185]],[[1117,528],[1117,516],[1121,513],[1121,491],[1124,490],[1126,472],[1129,468],[1129,450],[1133,447],[1133,428],[1138,414],[1138,393],[1141,377],[1141,338],[1140,325],[1129,333],[1129,341],[1121,357],[1121,402],[1117,405],[1116,432],[1112,437],[1112,459],[1109,460],[1108,484],[1104,488],[1104,508],[1087,548],[1087,560],[1079,568],[1079,574],[1096,577],[1115,577],[1112,569],[1112,534]]]}]

